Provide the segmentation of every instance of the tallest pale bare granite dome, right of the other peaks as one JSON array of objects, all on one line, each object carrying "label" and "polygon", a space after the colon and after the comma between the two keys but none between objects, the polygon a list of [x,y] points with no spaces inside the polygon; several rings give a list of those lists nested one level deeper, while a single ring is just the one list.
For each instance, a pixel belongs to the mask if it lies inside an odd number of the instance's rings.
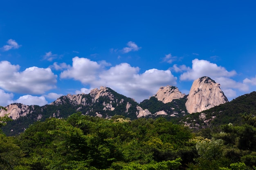
[{"label": "tallest pale bare granite dome, right of the other peaks", "polygon": [[186,109],[188,113],[202,112],[226,102],[228,99],[220,89],[220,84],[210,77],[201,77],[191,86]]}]

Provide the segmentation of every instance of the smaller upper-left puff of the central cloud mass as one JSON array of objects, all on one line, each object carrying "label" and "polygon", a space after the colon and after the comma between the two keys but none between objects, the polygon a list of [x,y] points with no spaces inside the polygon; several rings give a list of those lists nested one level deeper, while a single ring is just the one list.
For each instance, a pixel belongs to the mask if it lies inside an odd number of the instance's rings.
[{"label": "smaller upper-left puff of the central cloud mass", "polygon": [[97,74],[100,71],[101,65],[93,62],[88,58],[74,57],[72,59],[72,67],[61,73],[61,78],[73,78],[79,80],[83,84],[90,84],[90,82],[97,79]]}]

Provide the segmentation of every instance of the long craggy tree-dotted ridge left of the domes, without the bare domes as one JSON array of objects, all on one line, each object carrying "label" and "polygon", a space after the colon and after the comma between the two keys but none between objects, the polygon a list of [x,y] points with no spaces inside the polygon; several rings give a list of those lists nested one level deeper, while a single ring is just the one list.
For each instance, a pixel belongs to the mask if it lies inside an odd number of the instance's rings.
[{"label": "long craggy tree-dotted ridge left of the domes, without the bare domes", "polygon": [[[45,121],[50,117],[65,118],[76,112],[103,118],[122,115],[130,119],[157,116],[180,117],[187,113],[185,102],[177,104],[175,101],[164,104],[157,98],[153,98],[138,104],[134,99],[101,86],[99,89],[93,89],[89,94],[61,96],[45,106],[14,103],[6,107],[7,111],[1,110],[0,112],[0,116],[10,113],[9,117],[13,119],[2,129],[7,135],[15,135],[24,131],[35,121]],[[150,106],[148,106],[149,103],[151,103]]]}]

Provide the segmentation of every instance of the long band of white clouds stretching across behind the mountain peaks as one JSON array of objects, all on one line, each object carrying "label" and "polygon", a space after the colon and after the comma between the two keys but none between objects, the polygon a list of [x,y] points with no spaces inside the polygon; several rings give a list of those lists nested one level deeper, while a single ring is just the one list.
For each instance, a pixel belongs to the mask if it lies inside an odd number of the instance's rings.
[{"label": "long band of white clouds stretching across behind the mountain peaks", "polygon": [[[166,59],[171,59],[171,55],[166,55]],[[256,86],[256,76],[245,78],[243,82],[237,82],[233,79],[238,75],[236,71],[228,71],[222,66],[198,59],[192,60],[191,67],[174,64],[168,70],[152,68],[143,73],[140,73],[139,67],[131,66],[128,63],[111,66],[105,60],[95,62],[83,57],[74,57],[72,65],[54,62],[49,68],[33,66],[26,68],[24,71],[19,71],[19,65],[2,61],[0,62],[0,68],[1,106],[7,106],[14,102],[43,106],[47,104],[46,98],[54,101],[62,96],[63,94],[57,93],[45,94],[47,91],[56,88],[57,84],[57,75],[52,72],[51,68],[61,71],[61,79],[74,79],[84,85],[80,90],[74,91],[75,94],[90,93],[93,88],[107,86],[117,91],[117,93],[134,98],[137,102],[154,95],[160,86],[172,85],[179,87],[177,80],[179,80],[179,83],[189,81],[192,84],[193,80],[202,76],[211,77],[217,83],[220,83],[222,91],[229,99],[237,97],[238,92],[244,94],[249,92],[252,86]],[[171,71],[180,75],[179,79]],[[184,91],[189,91],[189,89],[184,89]],[[24,95],[13,100],[13,93]]]}]

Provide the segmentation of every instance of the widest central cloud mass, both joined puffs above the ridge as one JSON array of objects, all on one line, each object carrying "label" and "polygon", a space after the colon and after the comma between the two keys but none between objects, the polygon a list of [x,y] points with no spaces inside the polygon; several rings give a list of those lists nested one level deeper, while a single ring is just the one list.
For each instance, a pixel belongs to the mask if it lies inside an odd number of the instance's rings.
[{"label": "widest central cloud mass, both joined puffs above the ridge", "polygon": [[[138,67],[128,63],[121,63],[109,69],[100,63],[86,58],[73,58],[72,68],[61,73],[61,78],[72,78],[93,88],[107,86],[113,90],[134,98],[137,102],[154,95],[160,86],[176,85],[177,77],[170,70],[150,69],[139,73]],[[83,88],[76,93],[89,93],[91,90]]]}]

